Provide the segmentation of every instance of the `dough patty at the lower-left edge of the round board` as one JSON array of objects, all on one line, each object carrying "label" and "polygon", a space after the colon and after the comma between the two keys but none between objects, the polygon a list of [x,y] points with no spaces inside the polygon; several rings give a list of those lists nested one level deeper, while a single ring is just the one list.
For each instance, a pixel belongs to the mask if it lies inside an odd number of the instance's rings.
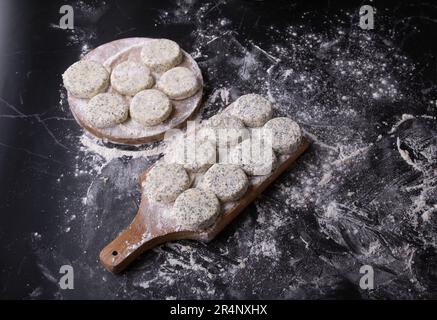
[{"label": "dough patty at the lower-left edge of the round board", "polygon": [[99,93],[86,106],[85,120],[95,128],[107,128],[127,119],[129,107],[122,96]]}]

